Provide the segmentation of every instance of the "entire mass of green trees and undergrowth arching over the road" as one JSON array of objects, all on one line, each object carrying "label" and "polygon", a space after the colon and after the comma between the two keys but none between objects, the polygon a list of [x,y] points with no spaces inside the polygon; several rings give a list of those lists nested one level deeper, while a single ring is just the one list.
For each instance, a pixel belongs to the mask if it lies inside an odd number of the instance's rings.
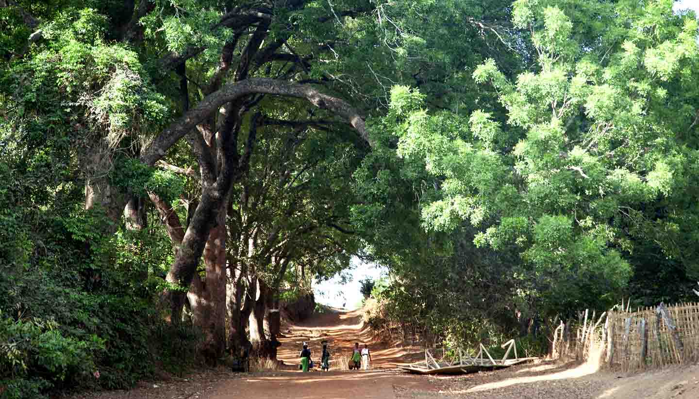
[{"label": "entire mass of green trees and undergrowth arching over the road", "polygon": [[682,301],[698,122],[672,0],[0,0],[0,395],[273,357],[354,257],[452,347]]}]

